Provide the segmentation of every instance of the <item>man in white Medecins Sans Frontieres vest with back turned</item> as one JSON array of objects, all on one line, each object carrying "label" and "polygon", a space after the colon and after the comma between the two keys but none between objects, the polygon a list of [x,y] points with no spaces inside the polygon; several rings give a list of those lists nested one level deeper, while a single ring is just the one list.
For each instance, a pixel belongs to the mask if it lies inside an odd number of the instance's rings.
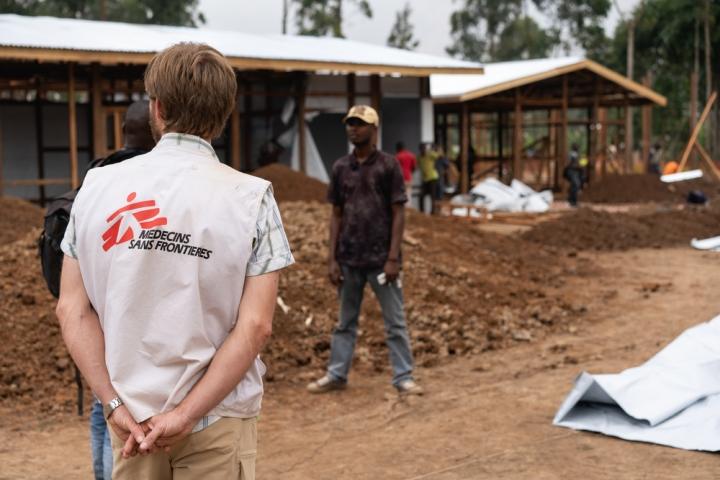
[{"label": "man in white Medecins Sans Frontieres vest with back turned", "polygon": [[270,184],[209,143],[235,106],[225,57],[174,45],[145,88],[159,142],[88,173],[63,240],[58,320],[105,405],[114,479],[252,479],[258,352],[292,254]]}]

